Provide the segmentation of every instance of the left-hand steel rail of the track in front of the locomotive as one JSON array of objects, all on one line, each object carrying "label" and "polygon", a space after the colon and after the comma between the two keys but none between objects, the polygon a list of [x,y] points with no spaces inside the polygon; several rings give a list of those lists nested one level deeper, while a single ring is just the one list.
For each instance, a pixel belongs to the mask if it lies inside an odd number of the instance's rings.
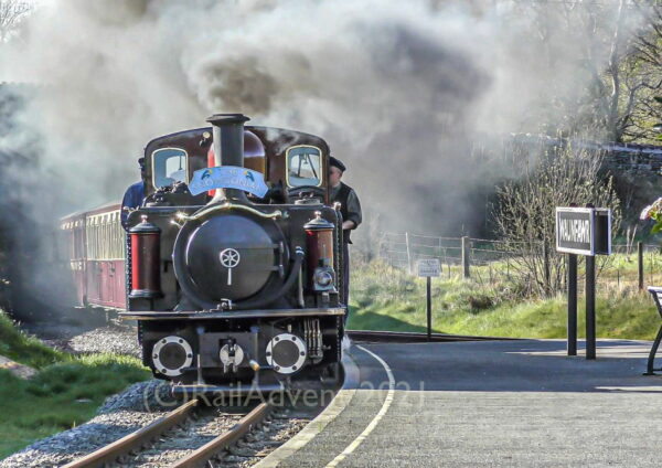
[{"label": "left-hand steel rail of the track in front of the locomotive", "polygon": [[64,468],[88,468],[110,464],[184,422],[197,407],[197,404],[199,400],[191,400],[147,426],[65,465]]}]

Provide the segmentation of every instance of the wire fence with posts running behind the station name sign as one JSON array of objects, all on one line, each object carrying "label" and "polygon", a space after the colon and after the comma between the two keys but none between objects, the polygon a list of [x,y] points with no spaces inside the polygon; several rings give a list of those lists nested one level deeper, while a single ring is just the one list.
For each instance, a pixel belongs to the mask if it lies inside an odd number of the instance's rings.
[{"label": "wire fence with posts running behind the station name sign", "polygon": [[[661,246],[615,244],[611,256],[597,258],[598,278],[617,288],[662,285]],[[421,258],[437,258],[442,277],[470,277],[495,285],[517,280],[524,287],[549,291],[565,289],[567,255],[540,241],[514,243],[470,237],[441,237],[415,233],[384,233],[380,258],[395,268],[416,273]],[[579,289],[584,287],[579,256]]]}]

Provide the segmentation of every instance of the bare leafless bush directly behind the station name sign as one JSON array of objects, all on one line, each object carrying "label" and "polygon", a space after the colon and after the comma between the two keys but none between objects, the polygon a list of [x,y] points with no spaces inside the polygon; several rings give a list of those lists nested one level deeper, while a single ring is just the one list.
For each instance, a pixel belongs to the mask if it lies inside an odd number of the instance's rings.
[{"label": "bare leafless bush directly behind the station name sign", "polygon": [[528,281],[527,290],[541,296],[564,287],[565,264],[554,252],[556,206],[594,203],[611,208],[613,230],[620,223],[620,202],[611,178],[600,177],[601,158],[572,148],[541,148],[540,163],[499,188],[495,224],[514,268]]}]

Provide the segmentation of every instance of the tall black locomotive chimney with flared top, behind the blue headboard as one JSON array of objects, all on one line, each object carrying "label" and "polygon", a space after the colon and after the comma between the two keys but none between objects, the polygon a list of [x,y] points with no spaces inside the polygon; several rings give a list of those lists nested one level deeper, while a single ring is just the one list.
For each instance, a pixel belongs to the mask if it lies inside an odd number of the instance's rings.
[{"label": "tall black locomotive chimney with flared top, behind the blue headboard", "polygon": [[[214,114],[206,119],[213,126],[214,166],[244,167],[244,123],[250,120],[243,114]],[[216,189],[210,203],[223,200],[248,202],[246,193],[237,189]]]}]

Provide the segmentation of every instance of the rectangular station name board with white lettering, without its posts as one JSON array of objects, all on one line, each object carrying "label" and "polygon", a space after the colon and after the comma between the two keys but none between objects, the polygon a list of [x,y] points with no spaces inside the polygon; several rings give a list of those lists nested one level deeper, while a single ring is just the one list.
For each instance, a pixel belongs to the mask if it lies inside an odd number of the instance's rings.
[{"label": "rectangular station name board with white lettering, without its posts", "polygon": [[610,255],[611,210],[557,208],[556,251],[577,255]]}]

